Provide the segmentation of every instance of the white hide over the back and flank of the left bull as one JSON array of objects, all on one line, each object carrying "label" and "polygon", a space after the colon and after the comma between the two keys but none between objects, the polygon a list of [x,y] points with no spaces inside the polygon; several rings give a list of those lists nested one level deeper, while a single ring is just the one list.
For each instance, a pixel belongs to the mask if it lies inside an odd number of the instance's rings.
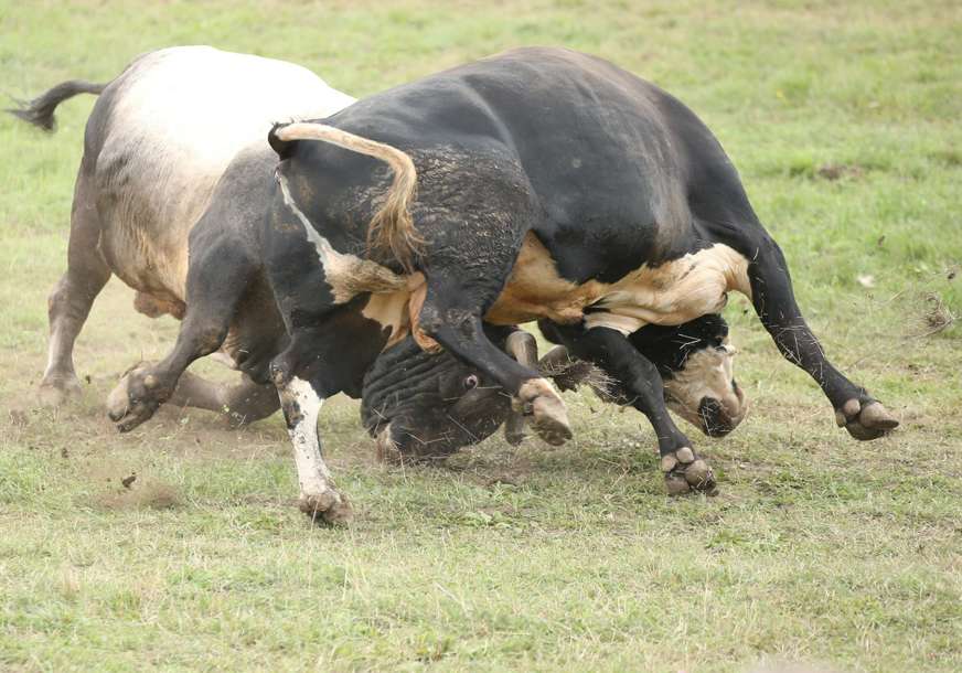
[{"label": "white hide over the back and flank of the left bull", "polygon": [[107,94],[114,107],[96,158],[101,246],[128,285],[180,300],[188,234],[234,157],[266,145],[276,121],[354,102],[299,65],[209,46],[141,56]]}]

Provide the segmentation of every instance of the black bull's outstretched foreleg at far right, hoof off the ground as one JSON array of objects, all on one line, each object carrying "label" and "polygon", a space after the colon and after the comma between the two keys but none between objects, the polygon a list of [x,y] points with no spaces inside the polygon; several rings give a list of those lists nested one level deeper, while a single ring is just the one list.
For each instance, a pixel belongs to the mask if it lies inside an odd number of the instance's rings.
[{"label": "black bull's outstretched foreleg at far right, hoof off the ground", "polygon": [[765,235],[748,267],[751,301],[781,354],[815,380],[835,408],[840,427],[855,439],[875,439],[898,420],[868,392],[836,370],[809,329],[795,302],[788,264],[778,244]]}]

